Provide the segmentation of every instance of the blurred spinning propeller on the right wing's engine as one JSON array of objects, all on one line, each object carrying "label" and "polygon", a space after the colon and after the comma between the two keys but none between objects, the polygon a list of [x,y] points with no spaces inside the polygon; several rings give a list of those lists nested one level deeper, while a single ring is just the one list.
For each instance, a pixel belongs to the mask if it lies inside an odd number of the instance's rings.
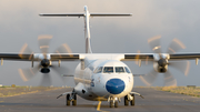
[{"label": "blurred spinning propeller on the right wing's engine", "polygon": [[141,80],[147,84],[151,85],[154,80],[157,79],[159,73],[163,73],[164,77],[164,85],[166,86],[176,86],[177,80],[173,78],[171,72],[168,70],[168,67],[174,68],[181,72],[184,73],[184,75],[188,75],[189,69],[190,69],[190,62],[189,61],[172,61],[169,60],[169,54],[176,53],[182,49],[184,49],[184,44],[180,42],[178,39],[173,39],[170,43],[167,53],[161,53],[161,45],[160,45],[160,39],[161,37],[153,37],[148,40],[148,43],[152,51],[154,51],[154,61],[153,61],[153,69],[150,73],[148,73],[144,77],[140,77]]}]

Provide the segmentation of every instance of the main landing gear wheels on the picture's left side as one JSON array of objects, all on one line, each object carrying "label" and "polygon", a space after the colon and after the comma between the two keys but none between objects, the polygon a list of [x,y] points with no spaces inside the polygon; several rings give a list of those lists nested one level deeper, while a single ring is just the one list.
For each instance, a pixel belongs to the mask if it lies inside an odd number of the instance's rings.
[{"label": "main landing gear wheels on the picture's left side", "polygon": [[66,105],[70,105],[70,103],[72,102],[72,105],[77,105],[77,94],[67,94],[66,95]]}]

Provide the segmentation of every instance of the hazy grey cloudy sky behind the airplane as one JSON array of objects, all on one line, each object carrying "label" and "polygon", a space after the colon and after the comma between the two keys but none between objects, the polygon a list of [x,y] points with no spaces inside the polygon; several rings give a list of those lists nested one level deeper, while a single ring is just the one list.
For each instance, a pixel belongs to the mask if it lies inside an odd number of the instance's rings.
[{"label": "hazy grey cloudy sky behind the airplane", "polygon": [[[40,52],[37,38],[51,34],[53,39],[49,52],[62,43],[68,43],[73,53],[84,53],[82,18],[44,18],[39,13],[80,13],[88,6],[89,12],[132,13],[132,17],[97,17],[90,19],[91,45],[94,53],[152,53],[148,39],[161,35],[162,52],[177,38],[187,47],[180,52],[200,52],[199,0],[0,0],[0,53],[18,53],[24,43],[34,52]],[[190,61],[188,77],[169,68],[178,85],[200,85],[200,70],[196,61]],[[36,62],[37,63],[37,62]],[[126,62],[136,74],[146,74],[152,65]],[[62,62],[73,70],[78,62]],[[23,82],[18,69],[31,68],[31,62],[4,61],[0,67],[0,83],[6,85],[39,85],[41,73]],[[51,74],[52,84],[74,86],[72,78],[66,82]],[[163,85],[163,74],[153,83]],[[134,78],[134,85],[144,85]]]}]

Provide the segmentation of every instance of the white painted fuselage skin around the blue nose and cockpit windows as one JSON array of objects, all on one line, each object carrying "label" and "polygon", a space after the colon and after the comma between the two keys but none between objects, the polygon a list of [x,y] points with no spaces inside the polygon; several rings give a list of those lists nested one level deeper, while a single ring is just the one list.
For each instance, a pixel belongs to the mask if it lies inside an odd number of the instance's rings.
[{"label": "white painted fuselage skin around the blue nose and cockpit windows", "polygon": [[[80,95],[83,99],[98,101],[98,100],[108,100],[108,98],[116,96],[116,98],[122,98],[131,92],[133,88],[133,75],[132,73],[93,73],[93,71],[98,67],[127,67],[123,62],[119,60],[113,60],[113,57],[110,58],[102,58],[102,59],[96,59],[94,57],[91,58],[84,58],[84,65],[86,69],[81,70],[81,64],[79,63],[76,68],[74,72],[74,82],[76,88],[74,91],[78,95]],[[124,90],[119,94],[111,94],[106,89],[106,83],[110,79],[120,79],[124,82],[126,88]],[[94,86],[91,86],[91,83],[94,84]],[[83,93],[84,91],[84,93]]]}]

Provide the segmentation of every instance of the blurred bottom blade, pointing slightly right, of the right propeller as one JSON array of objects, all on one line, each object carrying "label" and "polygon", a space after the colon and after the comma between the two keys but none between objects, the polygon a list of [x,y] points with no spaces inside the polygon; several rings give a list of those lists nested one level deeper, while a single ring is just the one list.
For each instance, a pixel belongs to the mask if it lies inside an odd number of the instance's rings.
[{"label": "blurred bottom blade, pointing slightly right, of the right propeller", "polygon": [[164,73],[164,86],[177,86],[177,80],[169,71]]}]

